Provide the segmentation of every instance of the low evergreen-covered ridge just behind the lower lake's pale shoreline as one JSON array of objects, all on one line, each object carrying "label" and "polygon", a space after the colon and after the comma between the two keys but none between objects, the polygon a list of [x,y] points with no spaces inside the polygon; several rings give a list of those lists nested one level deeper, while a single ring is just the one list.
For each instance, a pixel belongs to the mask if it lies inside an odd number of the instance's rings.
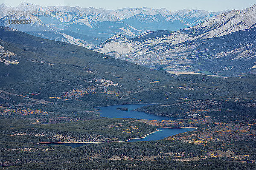
[{"label": "low evergreen-covered ridge just behind the lower lake's pale shoreline", "polygon": [[99,119],[52,125],[35,125],[34,122],[21,119],[0,119],[1,141],[34,144],[39,142],[114,142],[143,137],[156,129],[136,119]]}]

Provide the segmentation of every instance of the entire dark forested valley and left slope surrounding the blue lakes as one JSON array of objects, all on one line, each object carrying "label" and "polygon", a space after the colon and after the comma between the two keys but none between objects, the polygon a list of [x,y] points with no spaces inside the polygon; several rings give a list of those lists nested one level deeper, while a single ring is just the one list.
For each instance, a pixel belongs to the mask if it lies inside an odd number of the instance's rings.
[{"label": "entire dark forested valley and left slope surrounding the blue lakes", "polygon": [[[4,27],[0,45],[0,58],[17,63],[0,62],[0,166],[6,166],[0,168],[256,169],[256,75],[174,79]],[[105,119],[96,108],[139,103],[154,105],[137,111],[176,119]],[[197,128],[160,141],[116,142],[157,127]],[[40,142],[100,143],[71,148]]]}]

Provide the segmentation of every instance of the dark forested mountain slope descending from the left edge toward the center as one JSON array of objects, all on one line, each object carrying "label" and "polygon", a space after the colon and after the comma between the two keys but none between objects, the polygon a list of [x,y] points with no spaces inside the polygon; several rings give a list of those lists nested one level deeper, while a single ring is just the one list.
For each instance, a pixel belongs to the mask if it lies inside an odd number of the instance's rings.
[{"label": "dark forested mountain slope descending from the left edge toward the center", "polygon": [[12,28],[0,27],[0,45],[0,88],[16,92],[51,97],[73,90],[125,94],[163,85],[172,78],[163,70],[151,70]]}]

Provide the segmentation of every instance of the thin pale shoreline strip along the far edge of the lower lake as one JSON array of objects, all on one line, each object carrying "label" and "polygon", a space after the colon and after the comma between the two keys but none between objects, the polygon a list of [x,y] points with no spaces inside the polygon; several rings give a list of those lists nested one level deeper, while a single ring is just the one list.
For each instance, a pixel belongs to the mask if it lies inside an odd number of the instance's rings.
[{"label": "thin pale shoreline strip along the far edge of the lower lake", "polygon": [[113,141],[113,142],[39,142],[37,144],[96,144],[96,143],[120,143],[120,142],[128,142],[129,140],[132,140],[132,139],[143,139],[145,137],[147,137],[148,135],[151,135],[152,133],[156,133],[160,130],[158,129],[164,129],[164,128],[168,128],[168,129],[184,129],[184,128],[194,128],[194,129],[197,129],[198,127],[157,127],[156,130],[154,130],[153,132],[151,133],[148,133],[146,135],[144,135],[143,137],[140,137],[140,138],[131,138],[131,139],[127,139],[127,140],[124,140],[124,141]]}]

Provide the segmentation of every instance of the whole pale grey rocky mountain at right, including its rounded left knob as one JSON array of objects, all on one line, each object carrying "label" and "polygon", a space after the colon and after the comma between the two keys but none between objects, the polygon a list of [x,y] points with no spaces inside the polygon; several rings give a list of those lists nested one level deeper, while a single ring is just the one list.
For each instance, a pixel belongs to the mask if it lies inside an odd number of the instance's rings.
[{"label": "whole pale grey rocky mountain at right, including its rounded left knob", "polygon": [[255,27],[256,5],[164,34],[114,35],[93,50],[151,68],[242,75],[255,73]]}]

